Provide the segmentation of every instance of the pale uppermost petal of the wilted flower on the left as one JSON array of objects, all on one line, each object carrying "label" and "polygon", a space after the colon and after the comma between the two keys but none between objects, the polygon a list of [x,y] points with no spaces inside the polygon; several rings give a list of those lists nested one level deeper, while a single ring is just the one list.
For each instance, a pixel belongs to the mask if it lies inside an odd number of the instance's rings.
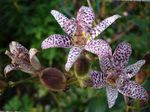
[{"label": "pale uppermost petal of the wilted flower on the left", "polygon": [[28,50],[16,41],[12,41],[9,44],[9,49],[10,49],[10,52],[14,54],[15,56],[21,53],[28,55]]}]

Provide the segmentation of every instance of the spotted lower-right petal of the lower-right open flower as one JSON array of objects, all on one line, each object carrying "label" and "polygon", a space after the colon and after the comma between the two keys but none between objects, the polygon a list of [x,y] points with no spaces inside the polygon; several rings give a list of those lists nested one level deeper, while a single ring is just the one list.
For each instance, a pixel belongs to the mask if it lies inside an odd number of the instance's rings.
[{"label": "spotted lower-right petal of the lower-right open flower", "polygon": [[148,100],[146,90],[134,81],[126,81],[125,85],[120,87],[118,91],[123,95],[134,99]]}]

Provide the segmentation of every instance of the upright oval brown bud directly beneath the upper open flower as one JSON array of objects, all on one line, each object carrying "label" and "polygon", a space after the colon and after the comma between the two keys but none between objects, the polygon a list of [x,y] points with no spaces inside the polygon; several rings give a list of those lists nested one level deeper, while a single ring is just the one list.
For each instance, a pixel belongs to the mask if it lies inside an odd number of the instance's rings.
[{"label": "upright oval brown bud directly beneath the upper open flower", "polygon": [[74,65],[74,70],[76,74],[81,77],[85,76],[89,72],[89,69],[90,69],[89,60],[85,56],[81,55]]}]

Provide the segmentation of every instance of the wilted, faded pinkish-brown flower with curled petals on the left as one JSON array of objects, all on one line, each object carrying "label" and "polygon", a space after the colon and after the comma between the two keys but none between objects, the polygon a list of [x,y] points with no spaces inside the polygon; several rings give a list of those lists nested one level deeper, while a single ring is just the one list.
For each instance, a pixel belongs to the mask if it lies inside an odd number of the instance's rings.
[{"label": "wilted, faded pinkish-brown flower with curled petals on the left", "polygon": [[11,58],[11,64],[7,65],[4,69],[4,74],[12,70],[21,70],[26,73],[34,73],[36,70],[41,69],[41,64],[35,56],[37,50],[31,48],[29,51],[16,41],[9,44],[10,51],[6,50],[5,54]]}]

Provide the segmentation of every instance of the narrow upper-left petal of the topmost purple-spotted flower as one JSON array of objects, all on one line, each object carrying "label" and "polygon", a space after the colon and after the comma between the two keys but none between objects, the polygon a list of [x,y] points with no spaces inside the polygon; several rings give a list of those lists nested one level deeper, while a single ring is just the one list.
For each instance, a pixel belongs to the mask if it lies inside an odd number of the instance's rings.
[{"label": "narrow upper-left petal of the topmost purple-spotted flower", "polygon": [[69,35],[73,36],[76,30],[76,23],[74,20],[68,19],[63,14],[56,10],[52,10],[51,14],[54,16],[54,18],[57,20],[57,22],[60,24],[61,28]]}]

